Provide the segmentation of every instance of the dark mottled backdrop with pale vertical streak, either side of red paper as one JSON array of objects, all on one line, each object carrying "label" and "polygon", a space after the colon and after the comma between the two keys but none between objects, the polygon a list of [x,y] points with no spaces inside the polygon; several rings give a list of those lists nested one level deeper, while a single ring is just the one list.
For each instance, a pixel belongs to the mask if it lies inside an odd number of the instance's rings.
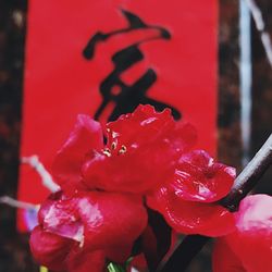
[{"label": "dark mottled backdrop with pale vertical streak, either side of red paper", "polygon": [[[264,50],[265,37],[272,38],[272,2],[219,2],[218,157],[240,171],[272,131],[272,58],[268,58],[272,46]],[[257,29],[246,2],[261,11],[264,27]],[[13,198],[18,180],[26,15],[26,0],[0,0],[0,196]],[[270,170],[256,190],[271,194],[271,180]],[[15,218],[14,208],[0,206],[0,272],[38,271],[27,235],[16,232]],[[210,248],[203,248],[188,271],[211,271]]]}]

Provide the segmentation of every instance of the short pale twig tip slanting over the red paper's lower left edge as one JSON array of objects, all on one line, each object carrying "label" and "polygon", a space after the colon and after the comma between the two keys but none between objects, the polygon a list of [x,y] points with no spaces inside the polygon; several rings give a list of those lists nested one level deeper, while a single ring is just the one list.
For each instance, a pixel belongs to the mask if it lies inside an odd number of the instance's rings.
[{"label": "short pale twig tip slanting over the red paper's lower left edge", "polygon": [[50,175],[50,173],[45,169],[44,164],[39,161],[38,156],[23,157],[22,163],[29,164],[41,177],[42,185],[51,191],[58,191],[60,189]]}]

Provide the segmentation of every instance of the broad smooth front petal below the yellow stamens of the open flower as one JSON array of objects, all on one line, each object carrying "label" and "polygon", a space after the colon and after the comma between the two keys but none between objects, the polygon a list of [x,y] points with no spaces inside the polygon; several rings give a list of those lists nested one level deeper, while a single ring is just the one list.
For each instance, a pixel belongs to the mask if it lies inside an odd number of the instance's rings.
[{"label": "broad smooth front petal below the yellow stamens of the open flower", "polygon": [[96,156],[83,168],[84,182],[90,189],[145,194],[173,178],[175,162],[169,152],[168,144],[161,143],[110,158]]}]

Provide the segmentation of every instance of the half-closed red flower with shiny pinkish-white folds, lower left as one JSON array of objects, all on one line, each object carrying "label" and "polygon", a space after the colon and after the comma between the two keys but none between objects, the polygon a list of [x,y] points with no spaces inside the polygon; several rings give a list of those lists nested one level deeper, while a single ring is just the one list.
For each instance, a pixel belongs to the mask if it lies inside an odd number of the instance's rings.
[{"label": "half-closed red flower with shiny pinkish-white folds, lower left", "polygon": [[104,265],[106,258],[124,262],[129,257],[134,240],[147,225],[147,213],[137,196],[57,193],[42,203],[39,224],[30,237],[32,252],[39,263],[75,271],[72,268],[78,262],[83,269],[76,271],[90,271],[90,259]]}]

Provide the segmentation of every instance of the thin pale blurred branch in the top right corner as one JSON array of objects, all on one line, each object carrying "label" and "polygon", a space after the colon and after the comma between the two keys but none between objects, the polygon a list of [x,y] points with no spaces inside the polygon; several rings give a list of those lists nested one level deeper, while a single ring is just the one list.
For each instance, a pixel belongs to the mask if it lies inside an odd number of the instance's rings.
[{"label": "thin pale blurred branch in the top right corner", "polygon": [[272,42],[270,34],[265,30],[265,23],[261,13],[260,8],[257,5],[255,0],[245,0],[250,10],[256,27],[260,33],[260,38],[267,53],[270,65],[272,66]]}]

